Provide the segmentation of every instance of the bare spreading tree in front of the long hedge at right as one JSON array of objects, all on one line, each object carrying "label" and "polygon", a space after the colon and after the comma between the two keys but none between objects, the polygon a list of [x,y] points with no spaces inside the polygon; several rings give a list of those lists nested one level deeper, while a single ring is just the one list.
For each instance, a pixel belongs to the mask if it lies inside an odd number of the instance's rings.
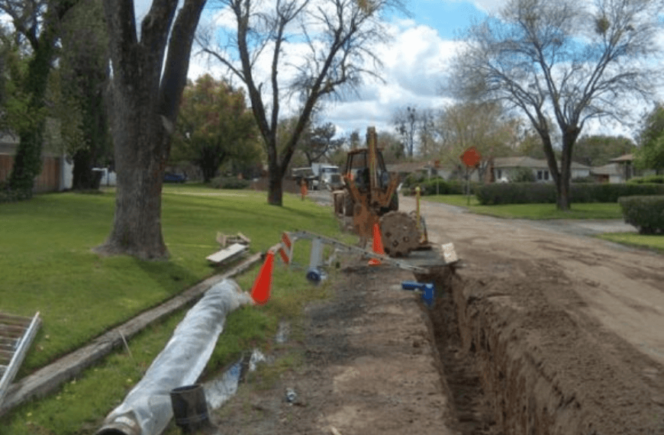
[{"label": "bare spreading tree in front of the long hedge at right", "polygon": [[[468,30],[449,88],[526,115],[567,210],[572,149],[588,120],[624,121],[634,99],[653,95],[661,11],[661,0],[510,0]],[[560,166],[549,119],[562,137]]]}]

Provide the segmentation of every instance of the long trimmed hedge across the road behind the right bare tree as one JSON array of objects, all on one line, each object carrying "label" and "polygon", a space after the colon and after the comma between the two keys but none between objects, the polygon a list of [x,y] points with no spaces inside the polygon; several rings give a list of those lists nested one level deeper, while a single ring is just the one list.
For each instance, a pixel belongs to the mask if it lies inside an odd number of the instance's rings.
[{"label": "long trimmed hedge across the road behind the right bare tree", "polygon": [[[552,183],[494,183],[479,186],[475,195],[482,205],[555,204]],[[661,184],[572,184],[572,203],[617,202],[622,196],[664,195]]]}]

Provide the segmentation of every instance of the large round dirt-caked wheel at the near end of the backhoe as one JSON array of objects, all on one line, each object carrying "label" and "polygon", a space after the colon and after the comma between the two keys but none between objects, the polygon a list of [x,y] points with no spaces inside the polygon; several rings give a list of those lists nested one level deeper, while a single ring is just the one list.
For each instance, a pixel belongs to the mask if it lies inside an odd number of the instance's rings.
[{"label": "large round dirt-caked wheel at the near end of the backhoe", "polygon": [[391,211],[380,218],[383,249],[390,257],[405,257],[418,248],[420,234],[415,219],[407,213]]}]

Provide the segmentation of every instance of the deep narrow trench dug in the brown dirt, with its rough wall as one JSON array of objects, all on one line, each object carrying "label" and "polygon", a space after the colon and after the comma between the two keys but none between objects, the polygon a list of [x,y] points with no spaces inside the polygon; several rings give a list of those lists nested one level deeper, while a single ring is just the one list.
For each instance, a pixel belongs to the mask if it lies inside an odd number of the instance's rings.
[{"label": "deep narrow trench dug in the brown dirt, with its rough wall", "polygon": [[463,435],[598,433],[581,423],[574,393],[541,376],[537,358],[513,345],[514,331],[492,317],[493,301],[476,298],[469,281],[453,269],[417,279],[435,283],[436,302],[428,314],[455,430]]}]

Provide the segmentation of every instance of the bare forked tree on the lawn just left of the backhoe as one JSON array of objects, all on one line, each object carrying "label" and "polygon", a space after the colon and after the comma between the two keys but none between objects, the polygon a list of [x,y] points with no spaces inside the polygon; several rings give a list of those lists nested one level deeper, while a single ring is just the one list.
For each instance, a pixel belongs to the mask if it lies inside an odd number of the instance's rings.
[{"label": "bare forked tree on the lawn just left of the backhoe", "polygon": [[[385,39],[380,14],[402,8],[401,0],[274,0],[271,9],[251,0],[217,0],[236,25],[229,43],[213,46],[211,34],[201,35],[203,51],[216,58],[247,87],[251,107],[268,158],[268,203],[282,205],[282,179],[312,112],[319,100],[341,97],[366,75],[375,75],[380,59],[371,50]],[[301,56],[286,53],[291,41],[304,41]],[[266,60],[265,81],[258,64]],[[278,74],[295,69],[290,83]],[[300,108],[292,134],[278,142],[281,104],[299,97]]]}]

